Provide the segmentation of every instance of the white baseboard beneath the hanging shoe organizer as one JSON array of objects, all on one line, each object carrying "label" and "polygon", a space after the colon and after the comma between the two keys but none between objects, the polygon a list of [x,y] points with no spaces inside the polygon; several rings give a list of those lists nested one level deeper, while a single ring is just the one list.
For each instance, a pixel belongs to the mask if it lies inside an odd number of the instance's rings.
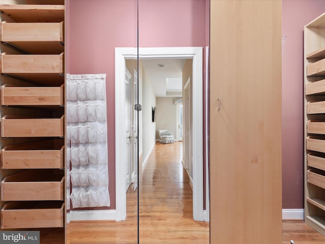
[{"label": "white baseboard beneath the hanging shoe organizer", "polygon": [[116,210],[71,210],[67,212],[67,223],[73,220],[116,220]]}]

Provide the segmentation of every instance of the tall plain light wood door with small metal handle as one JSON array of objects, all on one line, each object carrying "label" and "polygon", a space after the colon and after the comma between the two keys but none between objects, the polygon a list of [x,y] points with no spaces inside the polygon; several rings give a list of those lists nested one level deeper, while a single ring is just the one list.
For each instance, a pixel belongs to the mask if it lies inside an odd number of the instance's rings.
[{"label": "tall plain light wood door with small metal handle", "polygon": [[282,243],[281,1],[210,18],[211,243]]}]

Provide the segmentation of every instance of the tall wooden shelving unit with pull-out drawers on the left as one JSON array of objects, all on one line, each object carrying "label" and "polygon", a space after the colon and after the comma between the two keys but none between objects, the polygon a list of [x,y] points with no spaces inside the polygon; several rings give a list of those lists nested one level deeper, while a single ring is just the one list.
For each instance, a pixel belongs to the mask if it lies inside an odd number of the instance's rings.
[{"label": "tall wooden shelving unit with pull-out drawers on the left", "polygon": [[65,6],[34,2],[0,5],[1,229],[39,230],[40,243],[61,244]]}]

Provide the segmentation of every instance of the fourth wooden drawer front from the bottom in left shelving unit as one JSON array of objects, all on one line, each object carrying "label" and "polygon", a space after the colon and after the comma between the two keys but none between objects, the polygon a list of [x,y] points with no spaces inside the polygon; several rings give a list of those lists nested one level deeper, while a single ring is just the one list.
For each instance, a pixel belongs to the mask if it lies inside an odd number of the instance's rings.
[{"label": "fourth wooden drawer front from the bottom in left shelving unit", "polygon": [[19,118],[5,115],[1,119],[2,137],[63,137],[61,118]]}]

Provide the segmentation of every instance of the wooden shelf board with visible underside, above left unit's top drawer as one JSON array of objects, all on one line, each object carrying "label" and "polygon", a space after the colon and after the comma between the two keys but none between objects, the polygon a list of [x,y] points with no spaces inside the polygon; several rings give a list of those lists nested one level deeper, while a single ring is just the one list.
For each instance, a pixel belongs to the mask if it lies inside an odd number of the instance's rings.
[{"label": "wooden shelf board with visible underside, above left unit's top drawer", "polygon": [[64,21],[64,5],[1,5],[0,11],[16,22]]}]

